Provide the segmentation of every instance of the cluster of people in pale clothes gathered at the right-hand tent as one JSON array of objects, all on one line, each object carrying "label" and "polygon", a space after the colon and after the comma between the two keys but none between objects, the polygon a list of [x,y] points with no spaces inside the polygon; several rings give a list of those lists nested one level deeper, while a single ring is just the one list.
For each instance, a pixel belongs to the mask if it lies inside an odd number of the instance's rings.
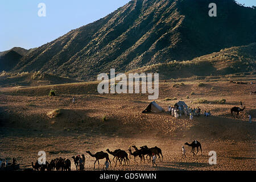
[{"label": "cluster of people in pale clothes gathered at the right-hand tent", "polygon": [[200,116],[200,113],[200,107],[194,107],[192,109],[186,106],[168,106],[168,114],[171,114],[175,118],[179,118],[184,114],[185,117],[189,116],[189,119],[192,119],[194,116]]}]

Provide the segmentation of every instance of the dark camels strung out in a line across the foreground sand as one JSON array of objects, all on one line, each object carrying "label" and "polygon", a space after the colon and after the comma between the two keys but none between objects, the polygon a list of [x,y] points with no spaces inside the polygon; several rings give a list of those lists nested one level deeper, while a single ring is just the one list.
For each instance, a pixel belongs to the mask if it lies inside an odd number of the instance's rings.
[{"label": "dark camels strung out in a line across the foreground sand", "polygon": [[[197,140],[194,140],[191,144],[189,144],[188,142],[185,143],[185,145],[192,147],[192,153],[193,156],[197,155],[197,153],[199,152],[199,147],[201,149],[201,155],[202,155],[202,148],[201,148],[201,143],[198,142]],[[131,151],[131,148],[134,148],[134,151]],[[129,146],[128,152],[131,156],[134,156],[134,161],[136,163],[137,160],[137,156],[138,158],[141,159],[141,162],[150,162],[152,156],[158,156],[159,161],[163,162],[163,154],[162,154],[162,150],[159,147],[151,147],[148,148],[146,145],[139,147],[140,149],[138,149],[136,146]],[[195,153],[195,148],[197,148],[197,152]],[[90,151],[86,151],[86,153],[88,153],[90,156],[92,156],[93,158],[95,158],[95,162],[94,162],[94,167],[93,169],[95,169],[95,164],[96,162],[98,162],[98,168],[100,168],[100,162],[99,160],[101,159],[106,159],[109,163],[110,163],[110,167],[111,167],[111,161],[109,158],[109,154],[113,155],[113,159],[112,161],[115,163],[115,166],[117,166],[117,163],[119,162],[120,165],[128,165],[130,164],[130,160],[128,157],[128,154],[126,151],[121,150],[121,149],[117,149],[114,151],[110,151],[109,148],[106,150],[107,152],[104,151],[100,151],[100,152],[96,152],[95,154],[92,154]],[[161,158],[162,157],[162,158]],[[82,154],[77,155],[77,156],[72,156],[72,159],[74,161],[75,167],[76,167],[76,171],[84,171],[85,170],[85,155]],[[35,171],[71,171],[71,160],[69,159],[65,159],[65,158],[56,158],[56,159],[52,159],[50,163],[46,162],[45,164],[39,164],[38,160],[36,161],[36,163],[34,164],[32,162],[32,168]]]}]

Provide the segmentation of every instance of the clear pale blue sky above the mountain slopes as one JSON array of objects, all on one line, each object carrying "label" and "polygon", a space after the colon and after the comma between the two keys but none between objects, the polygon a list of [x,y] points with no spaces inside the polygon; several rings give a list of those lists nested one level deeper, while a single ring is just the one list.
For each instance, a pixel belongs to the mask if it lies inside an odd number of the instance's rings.
[{"label": "clear pale blue sky above the mountain slopes", "polygon": [[[73,29],[103,18],[129,1],[1,0],[0,52],[13,47],[30,49],[42,46]],[[237,2],[256,6],[255,0]],[[46,16],[38,15],[39,3],[46,5]]]}]

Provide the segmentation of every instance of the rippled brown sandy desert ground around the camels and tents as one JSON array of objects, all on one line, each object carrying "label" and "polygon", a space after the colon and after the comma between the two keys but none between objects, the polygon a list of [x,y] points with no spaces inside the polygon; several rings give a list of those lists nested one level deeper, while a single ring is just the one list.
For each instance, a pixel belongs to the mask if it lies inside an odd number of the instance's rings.
[{"label": "rippled brown sandy desert ground around the camels and tents", "polygon": [[[176,88],[173,82],[161,82],[156,102],[167,110],[168,105],[183,100],[188,106],[210,110],[211,117],[201,115],[190,121],[184,116],[176,119],[167,113],[142,114],[150,102],[146,94],[101,95],[95,93],[97,85],[93,84],[55,85],[55,97],[47,96],[51,86],[0,88],[0,156],[17,158],[24,169],[31,168],[31,162],[38,159],[38,151],[46,151],[48,161],[59,156],[71,159],[74,155],[85,154],[85,169],[93,170],[95,159],[85,151],[93,154],[106,152],[107,148],[127,151],[131,145],[138,148],[147,145],[162,149],[163,162],[157,160],[157,167],[139,159],[136,163],[130,158],[129,165],[113,165],[110,169],[255,171],[256,96],[249,92],[255,91],[256,84],[214,81],[199,87],[196,81],[183,83]],[[76,104],[72,104],[73,95]],[[177,100],[165,100],[167,97]],[[207,102],[195,104],[199,98]],[[222,98],[225,104],[214,103]],[[232,118],[230,108],[240,106],[240,101],[246,109],[238,118]],[[47,113],[55,109],[61,109],[61,115],[49,118]],[[253,123],[248,122],[249,113],[253,115]],[[102,121],[104,116],[106,121]],[[181,146],[195,139],[202,144],[203,155],[193,156],[191,148],[185,146],[187,158],[183,159]],[[216,151],[216,165],[208,163],[209,151]],[[100,169],[96,164],[96,170],[102,170],[103,164],[101,160]]]}]

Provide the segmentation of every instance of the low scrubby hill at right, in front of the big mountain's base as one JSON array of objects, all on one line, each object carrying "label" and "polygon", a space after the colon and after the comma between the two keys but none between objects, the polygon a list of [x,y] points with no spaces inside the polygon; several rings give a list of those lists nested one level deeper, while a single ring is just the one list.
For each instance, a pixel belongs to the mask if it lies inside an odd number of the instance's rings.
[{"label": "low scrubby hill at right, in front of the big mountain's base", "polygon": [[[193,76],[224,76],[234,73],[255,74],[256,43],[221,49],[219,52],[188,61],[170,61],[134,69],[128,73],[159,73],[161,80]],[[249,73],[250,72],[250,73]]]}]

